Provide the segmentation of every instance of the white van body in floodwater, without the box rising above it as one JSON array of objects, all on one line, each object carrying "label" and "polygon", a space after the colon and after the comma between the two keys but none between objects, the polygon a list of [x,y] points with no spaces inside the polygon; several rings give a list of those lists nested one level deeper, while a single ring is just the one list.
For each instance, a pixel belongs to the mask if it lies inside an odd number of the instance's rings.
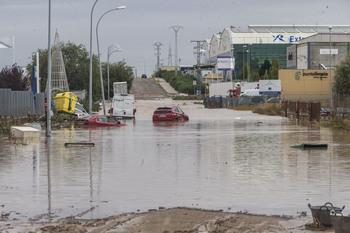
[{"label": "white van body in floodwater, without the box rising above it", "polygon": [[135,98],[129,94],[113,96],[110,114],[118,118],[135,118]]}]

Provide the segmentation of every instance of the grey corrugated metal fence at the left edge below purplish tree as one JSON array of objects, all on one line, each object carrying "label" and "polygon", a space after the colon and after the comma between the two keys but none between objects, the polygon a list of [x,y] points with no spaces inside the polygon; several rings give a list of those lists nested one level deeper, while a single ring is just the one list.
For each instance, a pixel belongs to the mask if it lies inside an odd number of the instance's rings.
[{"label": "grey corrugated metal fence at the left edge below purplish tree", "polygon": [[45,113],[45,93],[0,89],[0,116],[23,117]]}]

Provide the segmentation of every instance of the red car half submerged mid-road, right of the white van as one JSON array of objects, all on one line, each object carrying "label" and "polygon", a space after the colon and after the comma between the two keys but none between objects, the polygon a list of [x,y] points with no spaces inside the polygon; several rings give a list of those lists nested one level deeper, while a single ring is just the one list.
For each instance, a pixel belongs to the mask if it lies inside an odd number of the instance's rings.
[{"label": "red car half submerged mid-road, right of the white van", "polygon": [[179,107],[161,107],[153,113],[153,121],[188,121],[189,117]]}]

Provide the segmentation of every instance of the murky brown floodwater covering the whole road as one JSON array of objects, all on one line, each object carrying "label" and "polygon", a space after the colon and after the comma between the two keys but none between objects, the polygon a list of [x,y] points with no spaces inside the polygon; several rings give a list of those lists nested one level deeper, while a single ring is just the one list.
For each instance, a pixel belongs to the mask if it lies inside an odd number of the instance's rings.
[{"label": "murky brown floodwater covering the whole road", "polygon": [[[256,214],[310,213],[328,201],[350,213],[350,137],[250,111],[139,100],[120,128],[42,133],[41,143],[0,143],[0,211],[9,219],[100,218],[159,207]],[[153,123],[179,105],[189,122]],[[91,141],[95,147],[65,142]],[[327,150],[290,148],[327,143]]]}]

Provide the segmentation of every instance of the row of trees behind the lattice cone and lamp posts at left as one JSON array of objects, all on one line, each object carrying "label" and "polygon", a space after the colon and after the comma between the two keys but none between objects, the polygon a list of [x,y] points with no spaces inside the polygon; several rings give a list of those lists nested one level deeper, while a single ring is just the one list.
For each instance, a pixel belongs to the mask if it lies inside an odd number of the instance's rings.
[{"label": "row of trees behind the lattice cone and lamp posts at left", "polygon": [[[89,70],[90,56],[87,49],[83,45],[76,45],[71,42],[62,43],[61,45],[63,63],[67,75],[70,90],[86,90],[89,92]],[[40,74],[40,90],[45,92],[47,84],[47,63],[48,50],[38,49],[39,53],[39,74]],[[12,90],[31,90],[33,86],[33,66],[36,65],[36,53],[33,53],[31,62],[26,65],[26,72],[20,66],[14,64],[12,67],[5,67],[0,72],[0,88],[10,88]],[[107,63],[102,62],[102,74],[104,83],[105,98],[107,98]],[[92,96],[94,101],[102,99],[100,71],[98,66],[98,57],[92,56]],[[134,77],[133,68],[128,66],[126,62],[119,61],[109,64],[109,80],[110,93],[113,93],[113,82],[126,81],[128,88],[132,85]]]}]

